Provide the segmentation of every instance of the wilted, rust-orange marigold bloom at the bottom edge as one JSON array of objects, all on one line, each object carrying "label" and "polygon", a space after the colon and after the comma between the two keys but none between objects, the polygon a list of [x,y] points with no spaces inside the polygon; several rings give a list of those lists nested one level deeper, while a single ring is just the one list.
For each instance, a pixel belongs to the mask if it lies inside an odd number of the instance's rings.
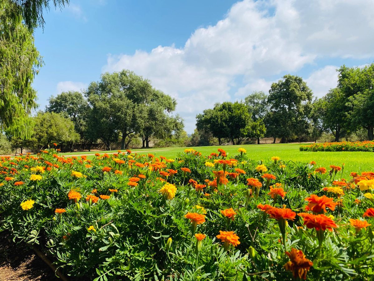
[{"label": "wilted, rust-orange marigold bloom at the bottom edge", "polygon": [[291,248],[291,252],[286,252],[290,261],[284,265],[284,268],[288,271],[292,271],[294,278],[300,278],[306,280],[306,274],[309,271],[313,263],[307,259],[301,250]]}]

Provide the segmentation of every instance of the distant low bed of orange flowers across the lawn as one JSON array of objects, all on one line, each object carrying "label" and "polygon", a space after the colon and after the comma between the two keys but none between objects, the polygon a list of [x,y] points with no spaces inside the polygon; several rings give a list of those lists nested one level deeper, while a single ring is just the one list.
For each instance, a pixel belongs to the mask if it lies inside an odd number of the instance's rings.
[{"label": "distant low bed of orange flowers across the lawn", "polygon": [[301,145],[300,151],[374,151],[374,141],[325,142]]}]

